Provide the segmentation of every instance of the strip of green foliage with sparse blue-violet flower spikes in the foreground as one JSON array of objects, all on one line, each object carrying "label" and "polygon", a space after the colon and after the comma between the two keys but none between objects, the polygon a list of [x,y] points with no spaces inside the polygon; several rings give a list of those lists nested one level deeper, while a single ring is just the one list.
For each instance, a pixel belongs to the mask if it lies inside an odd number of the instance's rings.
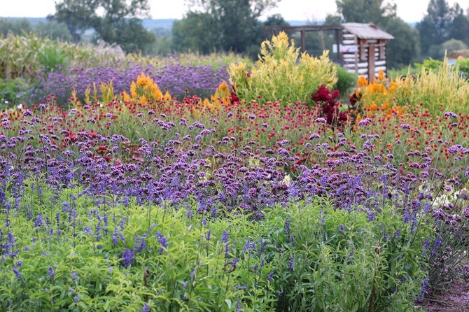
[{"label": "strip of green foliage with sparse blue-violet flower spikes in the foreground", "polygon": [[18,249],[0,264],[4,311],[412,311],[423,278],[426,229],[411,234],[391,206],[370,221],[314,198],[215,219],[193,199],[95,206],[80,187],[27,185],[0,220]]}]

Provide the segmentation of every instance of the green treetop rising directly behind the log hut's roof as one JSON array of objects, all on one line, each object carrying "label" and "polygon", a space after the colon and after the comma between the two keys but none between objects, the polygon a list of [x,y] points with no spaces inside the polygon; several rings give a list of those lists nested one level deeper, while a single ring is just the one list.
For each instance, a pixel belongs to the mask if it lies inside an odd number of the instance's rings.
[{"label": "green treetop rising directly behind the log hut's roof", "polygon": [[396,16],[395,3],[384,0],[335,0],[337,13],[344,22],[381,24],[383,20]]}]

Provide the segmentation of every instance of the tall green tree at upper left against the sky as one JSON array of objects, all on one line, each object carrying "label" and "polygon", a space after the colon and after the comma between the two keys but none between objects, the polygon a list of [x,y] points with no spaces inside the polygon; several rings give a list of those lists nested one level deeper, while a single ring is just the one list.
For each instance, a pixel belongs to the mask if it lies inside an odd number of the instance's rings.
[{"label": "tall green tree at upper left against the sky", "polygon": [[142,44],[154,42],[153,34],[140,20],[148,16],[148,0],[58,0],[55,10],[49,19],[64,22],[74,41],[80,41],[83,31],[92,28],[97,38],[118,43],[126,52],[145,50]]}]

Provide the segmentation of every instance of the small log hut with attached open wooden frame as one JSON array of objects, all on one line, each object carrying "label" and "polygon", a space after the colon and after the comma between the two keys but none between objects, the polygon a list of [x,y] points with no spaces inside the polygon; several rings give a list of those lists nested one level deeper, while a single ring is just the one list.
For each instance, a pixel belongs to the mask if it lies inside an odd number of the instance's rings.
[{"label": "small log hut with attached open wooden frame", "polygon": [[[368,78],[380,70],[387,73],[386,43],[394,37],[374,24],[344,23],[341,25],[267,26],[265,37],[279,31],[300,32],[300,50],[306,50],[306,33],[309,31],[334,31],[336,62],[350,72]],[[370,51],[372,51],[370,53]]]}]

